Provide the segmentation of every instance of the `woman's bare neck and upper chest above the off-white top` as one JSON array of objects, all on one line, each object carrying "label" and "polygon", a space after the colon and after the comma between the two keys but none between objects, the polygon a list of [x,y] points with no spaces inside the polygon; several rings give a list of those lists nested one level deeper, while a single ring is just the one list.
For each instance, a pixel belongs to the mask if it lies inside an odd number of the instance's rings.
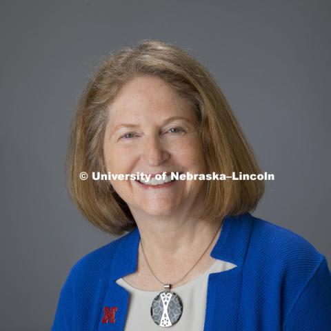
[{"label": "woman's bare neck and upper chest above the off-white top", "polygon": [[126,282],[135,288],[159,290],[162,285],[154,274],[162,283],[181,286],[198,277],[214,263],[210,252],[219,238],[220,221],[187,219],[176,224],[170,221],[168,219],[168,224],[158,226],[156,221],[139,223],[138,220],[143,251],[139,245],[137,271],[125,277]]}]

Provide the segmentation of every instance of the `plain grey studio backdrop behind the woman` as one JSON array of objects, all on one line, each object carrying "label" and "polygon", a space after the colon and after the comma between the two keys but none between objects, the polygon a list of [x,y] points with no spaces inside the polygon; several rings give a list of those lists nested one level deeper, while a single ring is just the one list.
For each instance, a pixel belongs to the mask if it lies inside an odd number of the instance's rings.
[{"label": "plain grey studio backdrop behind the woman", "polygon": [[70,267],[113,240],[66,193],[66,143],[97,60],[141,39],[212,72],[276,175],[254,215],[331,261],[330,1],[201,2],[1,1],[1,330],[48,330]]}]

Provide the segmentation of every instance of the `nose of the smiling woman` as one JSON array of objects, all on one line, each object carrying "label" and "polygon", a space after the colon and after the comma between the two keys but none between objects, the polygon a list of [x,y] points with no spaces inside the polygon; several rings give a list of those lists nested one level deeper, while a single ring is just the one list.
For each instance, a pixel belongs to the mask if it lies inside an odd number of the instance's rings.
[{"label": "nose of the smiling woman", "polygon": [[143,159],[149,165],[159,165],[169,158],[160,137],[148,137],[143,146]]}]

